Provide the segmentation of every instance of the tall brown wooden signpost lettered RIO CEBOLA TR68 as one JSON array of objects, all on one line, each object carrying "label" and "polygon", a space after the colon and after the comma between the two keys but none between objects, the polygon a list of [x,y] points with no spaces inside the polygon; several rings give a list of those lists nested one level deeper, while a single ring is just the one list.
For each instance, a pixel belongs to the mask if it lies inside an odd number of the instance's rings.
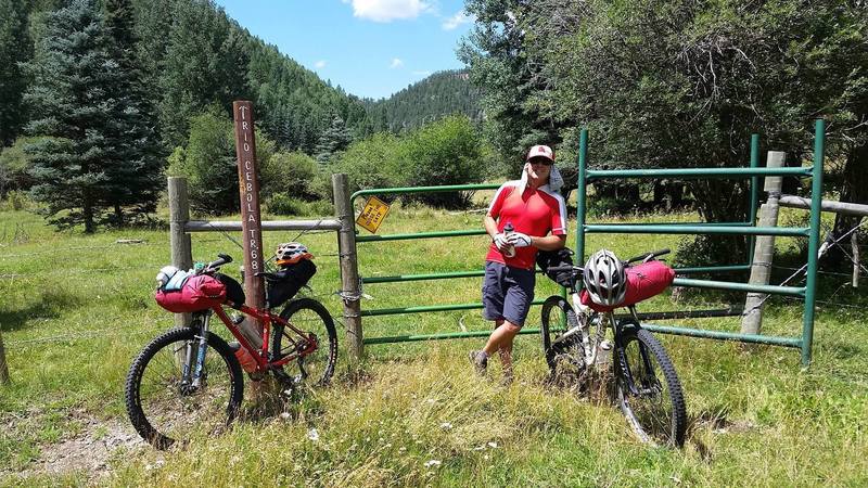
[{"label": "tall brown wooden signpost lettered RIO CEBOLA TR68", "polygon": [[[251,102],[232,102],[235,119],[235,154],[238,155],[239,194],[241,196],[241,228],[244,247],[244,293],[246,305],[265,307],[263,279],[255,274],[265,271],[263,260],[263,227],[259,215],[259,168],[256,166],[256,141],[253,130]],[[253,323],[251,323],[253,322]],[[253,319],[241,325],[247,339],[261,347],[263,324]],[[256,334],[251,334],[252,332]],[[255,335],[255,337],[252,337]]]}]

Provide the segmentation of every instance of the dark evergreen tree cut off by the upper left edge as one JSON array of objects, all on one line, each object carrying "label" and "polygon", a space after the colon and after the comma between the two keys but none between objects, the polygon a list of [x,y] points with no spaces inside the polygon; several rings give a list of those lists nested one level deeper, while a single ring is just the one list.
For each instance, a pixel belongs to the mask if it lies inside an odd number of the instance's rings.
[{"label": "dark evergreen tree cut off by the upper left edge", "polygon": [[21,0],[0,0],[0,146],[20,134],[25,115],[22,97],[26,78],[18,63],[31,53],[27,12]]}]

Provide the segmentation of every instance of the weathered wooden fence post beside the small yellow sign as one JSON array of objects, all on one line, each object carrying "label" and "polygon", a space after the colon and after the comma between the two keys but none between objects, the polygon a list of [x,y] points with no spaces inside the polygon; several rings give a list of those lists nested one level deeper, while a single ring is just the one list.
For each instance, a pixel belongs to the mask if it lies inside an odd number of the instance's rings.
[{"label": "weathered wooden fence post beside the small yellow sign", "polygon": [[332,175],[334,213],[341,222],[337,231],[337,253],[341,256],[341,297],[344,300],[344,324],[346,326],[349,360],[357,364],[365,354],[361,333],[361,290],[356,255],[356,224],[353,203],[349,201],[349,180],[346,175]]}]

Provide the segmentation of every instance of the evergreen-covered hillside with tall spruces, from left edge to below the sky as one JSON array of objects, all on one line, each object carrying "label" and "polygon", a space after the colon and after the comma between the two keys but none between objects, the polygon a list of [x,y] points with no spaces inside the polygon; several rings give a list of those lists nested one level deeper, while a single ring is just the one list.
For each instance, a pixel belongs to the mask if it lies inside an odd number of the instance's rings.
[{"label": "evergreen-covered hillside with tall spruces, from left edge to below the sky", "polygon": [[465,74],[362,101],[210,0],[0,0],[0,197],[27,192],[60,227],[145,216],[167,172],[194,194],[225,193],[202,202],[232,211],[235,100],[254,102],[263,165],[297,153],[323,170],[374,132],[478,118]]}]

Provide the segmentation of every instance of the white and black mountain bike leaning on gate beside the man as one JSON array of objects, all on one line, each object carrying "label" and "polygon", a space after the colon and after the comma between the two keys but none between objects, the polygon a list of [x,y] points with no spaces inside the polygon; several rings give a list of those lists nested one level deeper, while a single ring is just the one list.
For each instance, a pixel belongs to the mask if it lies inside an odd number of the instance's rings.
[{"label": "white and black mountain bike leaning on gate beside the man", "polygon": [[[624,265],[647,262],[667,253],[669,249],[646,253]],[[636,306],[624,307],[629,311],[626,318],[616,319],[614,311],[597,312],[579,298],[583,268],[549,268],[549,272],[559,271],[572,271],[572,305],[563,297],[550,296],[542,304],[540,324],[552,377],[566,375],[579,390],[587,390],[593,381],[611,381],[615,402],[642,441],[684,446],[687,409],[681,384],[666,350],[639,323]],[[612,331],[612,341],[605,337],[607,330]]]}]

